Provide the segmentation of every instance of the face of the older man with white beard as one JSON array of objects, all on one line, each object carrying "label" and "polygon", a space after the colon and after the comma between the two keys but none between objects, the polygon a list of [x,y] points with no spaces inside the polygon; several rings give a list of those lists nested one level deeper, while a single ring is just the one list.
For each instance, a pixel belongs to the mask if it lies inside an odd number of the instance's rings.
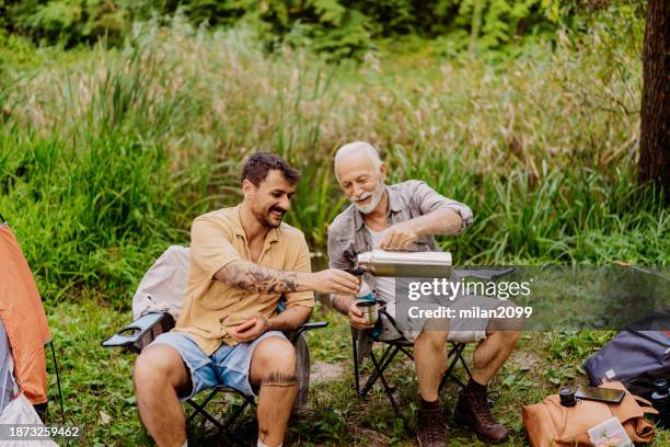
[{"label": "face of the older man with white beard", "polygon": [[377,208],[384,194],[386,167],[379,169],[370,157],[361,151],[350,153],[337,161],[337,181],[347,198],[362,214],[369,214]]}]

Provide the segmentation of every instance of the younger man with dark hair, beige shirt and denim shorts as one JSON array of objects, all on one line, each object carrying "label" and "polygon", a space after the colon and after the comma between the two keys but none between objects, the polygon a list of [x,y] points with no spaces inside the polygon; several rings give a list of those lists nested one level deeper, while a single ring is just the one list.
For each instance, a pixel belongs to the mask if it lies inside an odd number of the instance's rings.
[{"label": "younger man with dark hair, beige shirt and denim shorts", "polygon": [[338,270],[310,273],[304,236],[281,222],[299,180],[281,158],[256,153],[242,172],[243,202],[194,220],[184,310],[135,365],[140,417],[159,446],[186,444],[178,400],[217,385],[257,394],[257,444],[281,445],[298,392],[296,352],[282,332],[309,320],[312,290],[358,288]]}]

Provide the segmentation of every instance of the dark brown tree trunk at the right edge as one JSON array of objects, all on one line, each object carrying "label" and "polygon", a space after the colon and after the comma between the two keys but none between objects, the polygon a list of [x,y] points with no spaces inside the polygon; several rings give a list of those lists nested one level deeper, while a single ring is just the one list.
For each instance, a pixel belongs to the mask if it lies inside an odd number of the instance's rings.
[{"label": "dark brown tree trunk at the right edge", "polygon": [[643,54],[638,174],[670,200],[670,0],[649,0]]}]

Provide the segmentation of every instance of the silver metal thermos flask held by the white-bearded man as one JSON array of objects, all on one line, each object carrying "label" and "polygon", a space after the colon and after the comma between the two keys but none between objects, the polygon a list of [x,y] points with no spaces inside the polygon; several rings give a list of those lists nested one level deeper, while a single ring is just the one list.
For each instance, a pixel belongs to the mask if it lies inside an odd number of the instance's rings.
[{"label": "silver metal thermos flask held by the white-bearded man", "polygon": [[358,267],[374,276],[451,277],[451,253],[372,250],[360,253]]}]

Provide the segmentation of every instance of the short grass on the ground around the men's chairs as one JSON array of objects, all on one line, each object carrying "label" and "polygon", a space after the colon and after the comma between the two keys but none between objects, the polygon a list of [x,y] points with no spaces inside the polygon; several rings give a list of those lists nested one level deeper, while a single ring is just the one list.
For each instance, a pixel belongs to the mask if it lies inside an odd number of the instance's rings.
[{"label": "short grass on the ground around the men's chairs", "polygon": [[[61,303],[49,312],[61,381],[65,393],[66,421],[83,424],[82,445],[151,445],[141,428],[132,392],[131,368],[134,355],[100,347],[100,342],[126,321],[125,313],[95,297],[77,303]],[[310,389],[311,412],[305,419],[291,423],[289,445],[413,445],[415,429],[417,383],[414,367],[398,357],[389,375],[396,389],[403,419],[393,413],[391,404],[377,386],[369,399],[354,398],[353,366],[348,323],[344,317],[319,307],[315,320],[331,325],[308,335],[313,360],[344,366],[338,379],[316,383]],[[581,368],[584,359],[613,335],[602,331],[534,332],[522,336],[517,352],[494,379],[496,392],[494,413],[510,428],[510,440],[504,445],[524,445],[521,405],[540,402],[557,392],[559,386],[587,383]],[[466,351],[470,357],[472,348]],[[85,360],[83,360],[85,358]],[[50,365],[50,362],[49,362]],[[461,371],[462,374],[462,371]],[[50,390],[56,390],[55,376],[49,377]],[[447,414],[451,414],[458,389],[448,385],[441,394]],[[57,412],[55,396],[51,411]],[[222,408],[222,403],[221,406]],[[215,402],[211,409],[217,409]],[[54,415],[57,416],[57,413]],[[255,420],[251,413],[243,417],[236,434],[251,444],[255,436]],[[472,432],[450,423],[451,443],[462,446],[483,445]],[[207,432],[192,426],[189,445],[213,445]],[[659,431],[652,447],[670,442],[670,432]],[[221,444],[224,445],[224,444]]]}]

